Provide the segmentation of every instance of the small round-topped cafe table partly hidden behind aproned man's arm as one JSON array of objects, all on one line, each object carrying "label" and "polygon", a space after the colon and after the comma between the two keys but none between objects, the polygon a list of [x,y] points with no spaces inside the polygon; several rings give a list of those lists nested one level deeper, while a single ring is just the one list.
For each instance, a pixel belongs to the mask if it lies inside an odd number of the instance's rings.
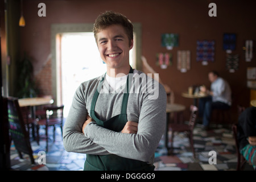
[{"label": "small round-topped cafe table partly hidden behind aproned man's arm", "polygon": [[181,104],[167,103],[167,105],[166,105],[166,129],[164,132],[164,146],[166,147],[167,151],[168,151],[168,131],[169,131],[168,124],[171,122],[170,114],[171,113],[179,113],[181,111],[184,111],[185,109],[186,109],[186,107]]}]

